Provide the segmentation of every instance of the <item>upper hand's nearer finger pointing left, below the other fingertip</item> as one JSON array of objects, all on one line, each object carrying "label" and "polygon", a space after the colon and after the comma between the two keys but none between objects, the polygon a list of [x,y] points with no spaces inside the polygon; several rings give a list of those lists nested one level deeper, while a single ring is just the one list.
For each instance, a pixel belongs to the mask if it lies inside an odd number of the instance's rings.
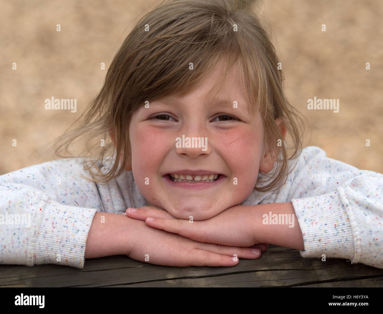
[{"label": "upper hand's nearer finger pointing left, below the other fingertip", "polygon": [[146,224],[149,227],[165,230],[172,233],[177,233],[183,237],[190,238],[198,242],[213,242],[213,240],[206,240],[204,237],[204,232],[200,228],[202,221],[193,221],[190,223],[189,220],[183,219],[162,219],[147,217],[145,220]]}]

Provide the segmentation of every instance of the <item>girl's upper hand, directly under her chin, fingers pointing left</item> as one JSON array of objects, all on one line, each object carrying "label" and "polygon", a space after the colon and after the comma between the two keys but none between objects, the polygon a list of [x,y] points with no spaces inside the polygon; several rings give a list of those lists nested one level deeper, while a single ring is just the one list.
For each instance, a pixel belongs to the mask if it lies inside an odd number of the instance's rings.
[{"label": "girl's upper hand, directly under her chin, fingers pointing left", "polygon": [[[266,243],[259,243],[255,237],[257,226],[262,222],[260,211],[252,206],[236,205],[206,220],[175,219],[165,210],[145,206],[136,211],[127,209],[128,217],[145,220],[156,229],[178,233],[198,242],[209,242],[234,247],[253,247],[265,251]],[[154,218],[148,220],[148,217]],[[150,218],[149,218],[150,219]],[[260,220],[259,220],[260,219]],[[246,257],[245,257],[246,258]]]}]

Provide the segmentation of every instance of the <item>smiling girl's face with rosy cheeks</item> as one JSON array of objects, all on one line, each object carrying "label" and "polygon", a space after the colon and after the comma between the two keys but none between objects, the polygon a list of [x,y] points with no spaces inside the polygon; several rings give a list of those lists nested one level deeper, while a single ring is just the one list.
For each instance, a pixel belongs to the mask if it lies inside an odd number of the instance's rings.
[{"label": "smiling girl's face with rosy cheeks", "polygon": [[[209,97],[222,71],[221,62],[184,97],[163,97],[150,102],[149,108],[142,105],[131,119],[131,167],[136,184],[148,205],[179,219],[208,219],[241,204],[254,189],[258,171],[273,168],[262,148],[262,120],[257,116],[251,123],[243,97],[246,91],[241,89],[236,69],[229,73],[217,98]],[[227,94],[231,102],[219,102]],[[200,147],[183,145],[188,137],[200,138]],[[183,175],[185,180],[190,175],[195,182],[174,182],[170,174]],[[210,174],[218,174],[218,179],[206,182]]]}]

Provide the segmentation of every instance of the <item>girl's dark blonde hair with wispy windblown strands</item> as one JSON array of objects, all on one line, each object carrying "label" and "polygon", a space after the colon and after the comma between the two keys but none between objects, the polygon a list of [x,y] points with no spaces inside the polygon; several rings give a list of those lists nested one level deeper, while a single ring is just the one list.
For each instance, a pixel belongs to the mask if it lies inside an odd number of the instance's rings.
[{"label": "girl's dark blonde hair with wispy windblown strands", "polygon": [[[128,130],[132,114],[146,100],[187,94],[223,59],[226,72],[214,86],[221,84],[234,64],[239,65],[241,85],[248,91],[245,97],[252,117],[261,113],[263,145],[277,156],[277,168],[270,177],[272,182],[254,189],[268,192],[282,186],[291,172],[288,161],[296,159],[302,149],[298,130],[302,123],[295,122],[300,117],[283,92],[284,75],[277,69],[275,49],[250,4],[250,1],[228,0],[161,2],[126,37],[100,92],[74,123],[82,117],[84,122],[54,141],[55,155],[84,157],[84,169],[90,172],[92,181],[108,182],[118,177],[131,162]],[[149,31],[145,31],[147,26]],[[189,62],[193,62],[192,71]],[[275,123],[278,117],[283,119],[291,137],[290,148]],[[109,130],[116,146],[107,137]],[[82,151],[70,155],[69,146],[74,148],[72,143],[78,138],[83,138],[79,145]],[[100,145],[100,139],[105,139],[105,146]],[[281,140],[282,146],[278,145]],[[289,149],[293,150],[290,157]],[[121,162],[113,157],[115,153],[122,157]],[[102,173],[100,164],[105,156],[110,156],[114,163]]]}]

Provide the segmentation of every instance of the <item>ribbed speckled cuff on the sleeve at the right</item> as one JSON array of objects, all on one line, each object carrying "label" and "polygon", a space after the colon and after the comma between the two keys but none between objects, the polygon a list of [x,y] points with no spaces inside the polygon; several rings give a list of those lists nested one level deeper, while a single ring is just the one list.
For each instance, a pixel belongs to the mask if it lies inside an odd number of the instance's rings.
[{"label": "ribbed speckled cuff on the sleeve at the right", "polygon": [[[302,257],[354,259],[354,236],[340,193],[291,200],[304,241]],[[357,262],[357,261],[356,261]]]}]

